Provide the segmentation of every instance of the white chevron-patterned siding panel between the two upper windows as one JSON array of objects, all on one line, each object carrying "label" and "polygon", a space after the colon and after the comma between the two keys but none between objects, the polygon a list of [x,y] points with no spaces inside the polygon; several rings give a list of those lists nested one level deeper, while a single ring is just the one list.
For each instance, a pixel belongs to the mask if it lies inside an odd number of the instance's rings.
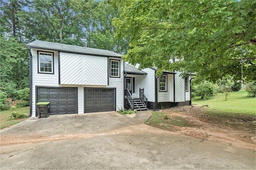
[{"label": "white chevron-patterned siding panel between the two upper windows", "polygon": [[108,85],[108,57],[60,52],[60,84]]}]

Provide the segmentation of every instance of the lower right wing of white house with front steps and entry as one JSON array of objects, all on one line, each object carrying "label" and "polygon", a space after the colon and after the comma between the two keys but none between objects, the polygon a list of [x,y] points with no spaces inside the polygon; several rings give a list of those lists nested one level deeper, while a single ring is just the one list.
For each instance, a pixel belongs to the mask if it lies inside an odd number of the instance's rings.
[{"label": "lower right wing of white house with front steps and entry", "polygon": [[179,72],[165,71],[160,77],[156,77],[156,67],[141,71],[138,67],[138,64],[133,67],[124,63],[125,96],[128,96],[125,101],[126,109],[145,108],[137,105],[138,98],[144,100],[142,103],[148,109],[191,105],[191,76],[182,78]]}]

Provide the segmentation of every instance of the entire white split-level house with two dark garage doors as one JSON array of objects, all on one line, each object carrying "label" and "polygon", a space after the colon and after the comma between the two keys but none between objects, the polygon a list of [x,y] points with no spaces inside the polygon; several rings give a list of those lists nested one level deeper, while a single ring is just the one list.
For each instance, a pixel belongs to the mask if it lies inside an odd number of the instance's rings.
[{"label": "entire white split-level house with two dark garage doors", "polygon": [[30,116],[50,102],[50,115],[161,109],[190,104],[189,79],[157,68],[138,70],[120,54],[36,40],[30,54]]}]

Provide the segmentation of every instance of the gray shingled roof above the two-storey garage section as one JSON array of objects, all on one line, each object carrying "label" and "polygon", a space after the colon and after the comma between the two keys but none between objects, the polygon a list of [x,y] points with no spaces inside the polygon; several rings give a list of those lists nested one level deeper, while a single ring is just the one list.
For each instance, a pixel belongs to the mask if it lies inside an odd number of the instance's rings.
[{"label": "gray shingled roof above the two-storey garage section", "polygon": [[45,42],[45,41],[40,41],[40,40],[36,40],[34,42],[26,44],[26,47],[38,48],[38,49],[49,49],[49,50],[54,50],[54,51],[67,52],[67,53],[97,55],[97,56],[103,56],[103,57],[118,57],[118,58],[121,57],[120,54],[114,53],[112,51],[108,51],[106,49],[80,47],[80,46],[76,46],[76,45]]}]

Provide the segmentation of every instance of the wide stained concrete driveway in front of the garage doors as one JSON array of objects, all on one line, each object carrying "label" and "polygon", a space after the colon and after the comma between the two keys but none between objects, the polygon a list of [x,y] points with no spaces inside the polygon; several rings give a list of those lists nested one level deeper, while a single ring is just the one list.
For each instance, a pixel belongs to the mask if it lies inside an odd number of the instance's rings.
[{"label": "wide stained concrete driveway in front of the garage doors", "polygon": [[0,130],[0,169],[256,169],[254,151],[150,127],[150,116],[27,119]]}]

